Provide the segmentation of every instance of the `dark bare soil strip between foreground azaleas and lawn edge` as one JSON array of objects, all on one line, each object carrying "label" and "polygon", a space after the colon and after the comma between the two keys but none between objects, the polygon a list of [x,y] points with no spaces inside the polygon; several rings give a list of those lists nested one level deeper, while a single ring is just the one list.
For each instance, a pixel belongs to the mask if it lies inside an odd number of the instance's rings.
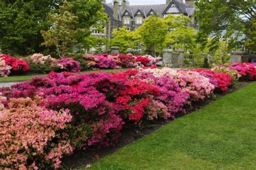
[{"label": "dark bare soil strip between foreground azaleas and lawn edge", "polygon": [[[223,97],[228,93],[237,91],[242,87],[247,86],[248,84],[250,84],[250,82],[248,81],[235,82],[235,84],[227,92],[215,92],[214,97],[210,97],[208,99],[193,103],[193,107],[188,107],[186,109],[186,114],[189,114],[193,111],[197,111],[205,105],[212,103],[215,99]],[[178,113],[176,115],[176,118],[183,117],[186,114]],[[151,122],[149,125],[145,125],[144,127],[125,128],[124,130],[122,130],[122,135],[118,139],[116,146],[104,147],[101,149],[87,148],[86,151],[75,151],[72,155],[64,157],[62,159],[62,165],[64,166],[63,169],[76,169],[79,167],[86,166],[87,164],[93,164],[97,162],[100,158],[103,158],[108,154],[114,153],[115,151],[117,151],[117,149],[129,145],[133,141],[145,137],[146,135],[156,131],[158,128],[163,127],[166,124],[169,124],[171,121],[173,120],[156,120]]]}]

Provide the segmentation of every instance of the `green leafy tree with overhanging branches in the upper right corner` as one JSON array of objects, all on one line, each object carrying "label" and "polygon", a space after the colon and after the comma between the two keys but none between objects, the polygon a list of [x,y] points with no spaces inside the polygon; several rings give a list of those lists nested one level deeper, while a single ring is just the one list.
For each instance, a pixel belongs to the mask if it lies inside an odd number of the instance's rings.
[{"label": "green leafy tree with overhanging branches in the upper right corner", "polygon": [[201,0],[196,2],[196,18],[199,24],[198,42],[207,44],[212,37],[211,48],[217,48],[220,39],[228,40],[229,49],[241,47],[250,39],[252,21],[255,19],[254,0]]}]

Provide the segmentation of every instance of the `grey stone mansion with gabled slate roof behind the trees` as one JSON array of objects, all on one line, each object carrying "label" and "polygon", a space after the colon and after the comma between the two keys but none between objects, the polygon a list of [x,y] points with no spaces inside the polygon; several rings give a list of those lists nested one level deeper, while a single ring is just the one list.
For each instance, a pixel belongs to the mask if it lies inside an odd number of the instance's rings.
[{"label": "grey stone mansion with gabled slate roof behind the trees", "polygon": [[[109,22],[104,27],[104,32],[91,28],[92,35],[99,38],[111,39],[113,29],[126,26],[127,30],[135,30],[143,24],[143,21],[150,15],[158,15],[162,18],[172,15],[186,15],[194,20],[195,0],[166,0],[165,4],[156,5],[130,5],[129,0],[113,0],[112,3],[102,2],[104,12],[109,17]],[[107,47],[104,46],[103,50]],[[95,49],[90,49],[90,52]]]}]

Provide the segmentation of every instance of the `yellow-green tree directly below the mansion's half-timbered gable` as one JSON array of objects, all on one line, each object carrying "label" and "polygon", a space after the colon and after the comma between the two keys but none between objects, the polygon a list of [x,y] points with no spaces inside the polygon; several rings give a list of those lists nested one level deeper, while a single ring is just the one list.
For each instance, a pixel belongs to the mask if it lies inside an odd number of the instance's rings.
[{"label": "yellow-green tree directly below the mansion's half-timbered gable", "polygon": [[164,18],[168,26],[164,46],[190,51],[196,45],[196,29],[190,27],[191,19],[184,15],[169,15]]}]

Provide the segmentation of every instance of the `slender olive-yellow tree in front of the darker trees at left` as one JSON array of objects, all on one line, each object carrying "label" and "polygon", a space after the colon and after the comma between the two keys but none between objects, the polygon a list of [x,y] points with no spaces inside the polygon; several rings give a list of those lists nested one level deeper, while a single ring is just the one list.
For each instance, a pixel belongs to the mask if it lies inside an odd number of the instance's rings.
[{"label": "slender olive-yellow tree in front of the darker trees at left", "polygon": [[52,13],[49,16],[49,23],[52,25],[48,31],[41,31],[45,42],[42,45],[55,46],[59,57],[64,57],[68,49],[76,43],[76,36],[83,29],[76,28],[78,17],[72,11],[73,5],[64,2],[60,6],[59,13]]}]

